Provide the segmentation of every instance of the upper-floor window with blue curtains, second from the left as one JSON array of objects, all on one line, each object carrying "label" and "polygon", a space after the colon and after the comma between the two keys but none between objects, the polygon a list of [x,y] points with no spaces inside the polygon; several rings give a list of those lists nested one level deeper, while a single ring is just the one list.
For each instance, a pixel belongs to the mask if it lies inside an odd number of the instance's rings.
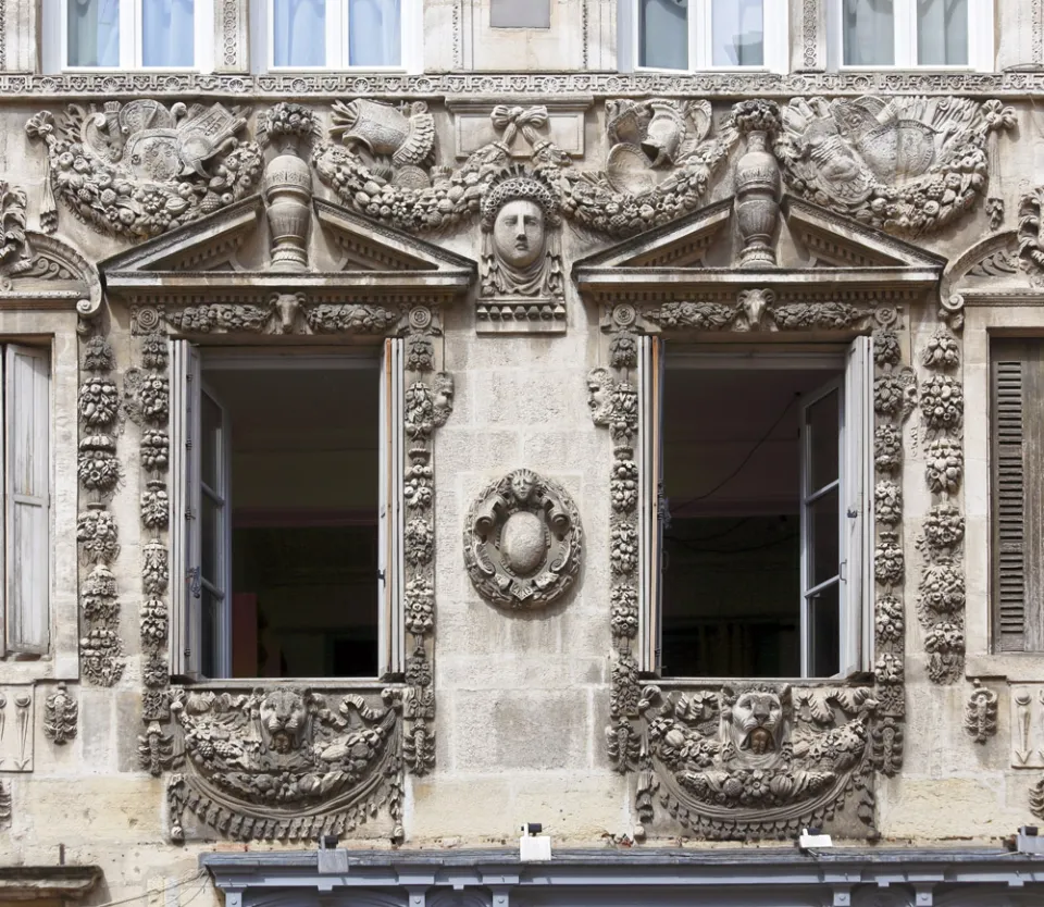
[{"label": "upper-floor window with blue curtains, second from the left", "polygon": [[399,69],[410,0],[268,0],[270,69]]}]

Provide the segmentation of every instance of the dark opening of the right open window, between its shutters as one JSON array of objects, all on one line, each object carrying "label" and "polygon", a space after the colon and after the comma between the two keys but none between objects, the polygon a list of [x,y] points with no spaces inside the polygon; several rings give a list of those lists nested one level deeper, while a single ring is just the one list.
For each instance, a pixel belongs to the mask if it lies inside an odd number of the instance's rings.
[{"label": "dark opening of the right open window, between its shutters", "polygon": [[666,364],[663,673],[837,674],[844,357],[773,366],[681,352]]}]

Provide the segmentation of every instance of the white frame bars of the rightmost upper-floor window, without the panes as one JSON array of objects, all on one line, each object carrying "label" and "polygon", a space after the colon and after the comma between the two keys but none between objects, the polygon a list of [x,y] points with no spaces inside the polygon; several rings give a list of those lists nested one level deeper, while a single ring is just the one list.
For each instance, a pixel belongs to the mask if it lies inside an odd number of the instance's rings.
[{"label": "white frame bars of the rightmost upper-floor window, without the panes", "polygon": [[994,0],[968,0],[968,62],[953,65],[917,62],[917,0],[893,0],[895,5],[895,60],[888,63],[847,65],[842,4],[844,0],[825,0],[830,20],[830,69],[867,72],[871,70],[928,70],[940,72],[993,72]]}]

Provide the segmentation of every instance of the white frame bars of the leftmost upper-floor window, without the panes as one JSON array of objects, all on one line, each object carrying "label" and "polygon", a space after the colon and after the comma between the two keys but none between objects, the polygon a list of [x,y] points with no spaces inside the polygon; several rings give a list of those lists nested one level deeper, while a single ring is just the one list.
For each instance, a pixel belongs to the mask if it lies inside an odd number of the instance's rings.
[{"label": "white frame bars of the leftmost upper-floor window, without the panes", "polygon": [[[97,73],[144,70],[145,72],[209,73],[214,69],[214,4],[213,0],[195,0],[192,30],[195,47],[191,66],[146,66],[142,62],[144,41],[141,28],[145,16],[142,3],[149,0],[119,0],[120,3],[120,64],[117,66],[72,66],[69,64],[69,4],[76,0],[45,0],[45,13],[49,13],[50,36],[47,42],[59,47],[58,61],[45,61],[49,72]],[[129,39],[127,36],[130,36]],[[47,54],[45,47],[45,54]]]}]

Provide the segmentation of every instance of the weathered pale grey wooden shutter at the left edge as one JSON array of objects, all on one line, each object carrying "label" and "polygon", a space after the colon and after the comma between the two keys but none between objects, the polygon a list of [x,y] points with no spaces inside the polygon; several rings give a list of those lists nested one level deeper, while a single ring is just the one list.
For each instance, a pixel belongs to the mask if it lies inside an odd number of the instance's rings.
[{"label": "weathered pale grey wooden shutter at the left edge", "polygon": [[50,642],[50,356],[4,348],[4,559],[8,651]]}]

